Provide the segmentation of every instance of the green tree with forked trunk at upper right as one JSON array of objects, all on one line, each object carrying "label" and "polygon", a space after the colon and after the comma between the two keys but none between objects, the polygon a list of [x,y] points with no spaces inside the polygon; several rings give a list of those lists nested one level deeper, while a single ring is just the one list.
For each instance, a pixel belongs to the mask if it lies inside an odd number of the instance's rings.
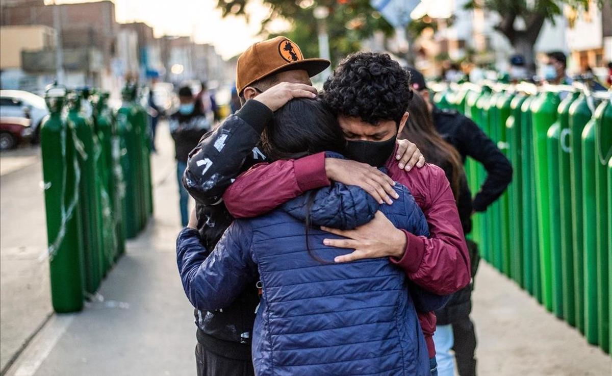
[{"label": "green tree with forked trunk at upper right", "polygon": [[[610,0],[595,1],[599,7]],[[471,0],[466,9],[483,9],[498,13],[499,23],[494,28],[501,32],[525,61],[535,61],[534,45],[546,20],[554,24],[554,18],[563,14],[564,6],[575,10],[588,10],[589,0]],[[522,22],[520,22],[522,21]],[[524,25],[518,28],[517,25]],[[531,69],[531,64],[529,64]]]}]

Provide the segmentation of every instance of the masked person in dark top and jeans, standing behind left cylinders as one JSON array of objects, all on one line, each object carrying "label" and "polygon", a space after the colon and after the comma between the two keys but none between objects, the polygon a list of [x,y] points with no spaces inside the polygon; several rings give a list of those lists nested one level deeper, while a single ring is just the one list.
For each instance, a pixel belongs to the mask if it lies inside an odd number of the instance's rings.
[{"label": "masked person in dark top and jeans, standing behind left cylinders", "polygon": [[179,207],[181,209],[181,224],[187,225],[189,212],[187,203],[189,194],[183,187],[182,178],[187,168],[189,152],[198,145],[198,141],[211,129],[211,122],[195,105],[195,99],[189,86],[179,89],[179,109],[170,116],[170,133],[174,139],[176,151],[176,176],[179,183]]}]

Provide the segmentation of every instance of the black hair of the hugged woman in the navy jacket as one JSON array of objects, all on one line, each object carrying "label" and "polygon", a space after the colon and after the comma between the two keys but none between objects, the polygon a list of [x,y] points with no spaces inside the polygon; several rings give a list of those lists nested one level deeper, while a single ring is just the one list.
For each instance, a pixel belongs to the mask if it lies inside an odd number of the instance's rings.
[{"label": "black hair of the hugged woman in the navy jacket", "polygon": [[[274,119],[262,134],[264,153],[271,160],[296,159],[322,151],[342,153],[346,140],[336,117],[323,101],[316,99],[293,99],[274,113]],[[328,263],[316,255],[308,242],[312,221],[310,212],[315,201],[315,192],[307,192],[305,231],[306,249],[310,257]]]}]

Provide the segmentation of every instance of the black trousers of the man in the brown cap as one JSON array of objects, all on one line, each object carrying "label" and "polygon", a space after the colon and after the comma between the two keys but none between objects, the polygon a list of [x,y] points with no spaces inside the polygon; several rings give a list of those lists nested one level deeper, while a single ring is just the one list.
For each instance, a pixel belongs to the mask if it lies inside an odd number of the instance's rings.
[{"label": "black trousers of the man in the brown cap", "polygon": [[255,376],[250,359],[225,358],[205,350],[200,344],[195,347],[195,361],[198,376]]}]

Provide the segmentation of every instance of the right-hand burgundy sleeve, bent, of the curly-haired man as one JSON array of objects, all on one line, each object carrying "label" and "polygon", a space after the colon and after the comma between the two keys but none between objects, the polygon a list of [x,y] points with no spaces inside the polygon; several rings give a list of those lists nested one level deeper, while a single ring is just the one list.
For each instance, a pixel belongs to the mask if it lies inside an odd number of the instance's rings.
[{"label": "right-hand burgundy sleeve, bent, of the curly-haired man", "polygon": [[468,247],[444,171],[432,170],[430,179],[429,194],[421,208],[429,225],[430,238],[405,231],[405,253],[402,258],[391,258],[391,261],[403,268],[417,285],[439,295],[448,295],[469,284]]}]

